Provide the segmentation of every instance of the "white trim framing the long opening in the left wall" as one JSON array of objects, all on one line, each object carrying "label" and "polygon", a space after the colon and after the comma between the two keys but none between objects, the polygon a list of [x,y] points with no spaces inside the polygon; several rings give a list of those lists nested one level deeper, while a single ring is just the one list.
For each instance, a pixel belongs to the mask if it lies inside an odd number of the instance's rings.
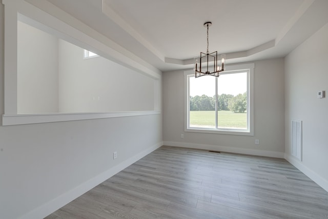
[{"label": "white trim framing the long opening in the left wall", "polygon": [[[2,125],[19,125],[34,123],[49,123],[74,120],[89,120],[94,118],[111,118],[124,116],[152,115],[160,114],[160,90],[161,75],[160,72],[145,67],[131,54],[119,52],[125,51],[114,42],[110,46],[98,41],[96,38],[85,34],[84,32],[73,28],[64,21],[50,15],[49,13],[31,5],[23,0],[2,0],[5,5],[5,62],[4,62],[4,108],[5,114],[2,115]],[[42,5],[48,4],[43,2]],[[50,3],[49,7],[53,7]],[[45,6],[46,7],[46,6]],[[105,112],[105,113],[42,113],[42,114],[17,114],[17,21],[19,16],[26,16],[27,19],[36,21],[37,26],[45,26],[58,37],[84,48],[94,48],[98,54],[111,59],[112,61],[131,68],[139,73],[145,74],[154,79],[154,110],[153,111],[129,111],[129,112]],[[72,18],[74,19],[74,18]],[[80,29],[90,29],[82,24]],[[50,28],[49,28],[50,27]],[[95,33],[94,31],[91,31]],[[98,35],[97,35],[98,36]],[[116,48],[116,49],[113,49]],[[119,50],[119,51],[118,51]]]}]

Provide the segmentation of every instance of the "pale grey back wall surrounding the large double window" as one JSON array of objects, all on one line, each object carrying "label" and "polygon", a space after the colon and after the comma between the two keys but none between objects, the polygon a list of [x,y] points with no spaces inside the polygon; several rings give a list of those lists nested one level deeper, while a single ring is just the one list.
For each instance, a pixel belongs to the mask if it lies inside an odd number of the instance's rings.
[{"label": "pale grey back wall surrounding the large double window", "polygon": [[[254,136],[185,132],[183,71],[163,73],[163,141],[166,145],[283,157],[283,59],[255,62]],[[180,134],[184,134],[184,138]],[[255,145],[255,139],[260,145]]]}]

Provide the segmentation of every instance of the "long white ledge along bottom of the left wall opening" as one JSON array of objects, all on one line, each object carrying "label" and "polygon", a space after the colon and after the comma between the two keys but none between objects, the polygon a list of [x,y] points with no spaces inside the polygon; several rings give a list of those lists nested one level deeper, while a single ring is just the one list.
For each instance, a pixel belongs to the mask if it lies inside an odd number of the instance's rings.
[{"label": "long white ledge along bottom of the left wall opening", "polygon": [[42,113],[42,114],[3,114],[2,125],[23,125],[35,123],[52,123],[76,120],[92,120],[96,118],[113,118],[138,115],[160,114],[160,111],[131,111],[109,113]]}]

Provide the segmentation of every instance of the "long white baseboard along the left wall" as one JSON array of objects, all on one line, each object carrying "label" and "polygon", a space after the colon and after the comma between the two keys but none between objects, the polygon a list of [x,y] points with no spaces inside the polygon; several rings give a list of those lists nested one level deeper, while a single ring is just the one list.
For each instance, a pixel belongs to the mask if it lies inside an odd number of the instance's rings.
[{"label": "long white baseboard along the left wall", "polygon": [[91,178],[87,182],[71,189],[70,191],[59,195],[58,197],[54,198],[53,200],[45,203],[44,205],[30,211],[29,213],[23,215],[22,219],[35,219],[35,218],[44,218],[51,214],[52,212],[56,211],[57,209],[65,206],[66,204],[70,203],[73,201],[75,198],[78,196],[86,193],[93,187],[99,185],[100,183],[104,182],[108,178],[112,177],[119,171],[127,168],[131,164],[135,163],[136,161],[140,160],[142,157],[146,156],[147,154],[153,152],[160,146],[162,146],[163,143],[159,142],[156,145],[153,145],[152,147],[141,151],[140,153],[130,157],[128,160],[121,162],[120,164],[112,167],[111,169],[95,176],[94,178]]}]

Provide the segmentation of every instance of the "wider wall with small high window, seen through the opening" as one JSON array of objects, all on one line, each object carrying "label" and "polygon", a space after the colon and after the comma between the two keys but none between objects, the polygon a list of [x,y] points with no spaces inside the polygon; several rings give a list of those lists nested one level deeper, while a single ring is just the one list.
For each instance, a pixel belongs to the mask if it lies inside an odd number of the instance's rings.
[{"label": "wider wall with small high window, seen through the opening", "polygon": [[59,112],[154,110],[154,79],[59,40]]}]

